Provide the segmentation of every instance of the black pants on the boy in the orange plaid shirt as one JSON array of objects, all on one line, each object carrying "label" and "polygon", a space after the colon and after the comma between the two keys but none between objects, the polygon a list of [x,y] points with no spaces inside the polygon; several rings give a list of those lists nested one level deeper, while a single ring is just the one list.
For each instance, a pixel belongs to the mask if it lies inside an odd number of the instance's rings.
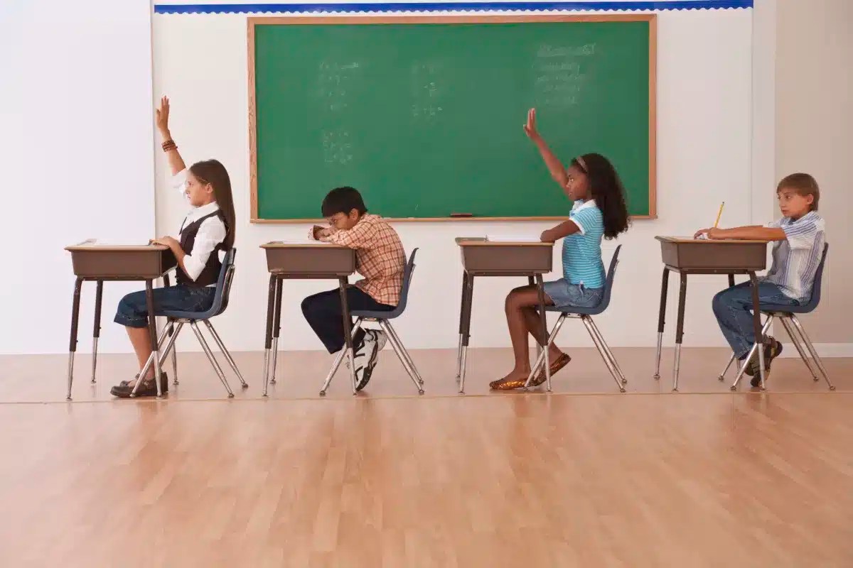
[{"label": "black pants on the boy in the orange plaid shirt", "polygon": [[[352,310],[380,310],[390,312],[394,306],[380,304],[360,288],[346,289],[346,303]],[[340,305],[340,290],[328,290],[310,295],[302,301],[302,313],[328,353],[338,353],[345,345],[343,307]],[[358,347],[364,339],[364,331],[352,336],[352,346]]]}]

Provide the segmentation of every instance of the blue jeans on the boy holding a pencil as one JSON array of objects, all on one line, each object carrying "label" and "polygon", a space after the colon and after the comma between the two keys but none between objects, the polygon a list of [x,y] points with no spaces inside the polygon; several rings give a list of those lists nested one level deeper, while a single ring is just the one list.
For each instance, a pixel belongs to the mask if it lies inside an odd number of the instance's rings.
[{"label": "blue jeans on the boy holding a pencil", "polygon": [[[758,283],[758,305],[780,304],[782,306],[798,306],[799,301],[782,293],[776,284],[769,282]],[[746,357],[755,343],[755,327],[752,322],[752,287],[744,282],[722,290],[714,296],[711,302],[717,324],[720,324],[722,335],[737,359]]]}]

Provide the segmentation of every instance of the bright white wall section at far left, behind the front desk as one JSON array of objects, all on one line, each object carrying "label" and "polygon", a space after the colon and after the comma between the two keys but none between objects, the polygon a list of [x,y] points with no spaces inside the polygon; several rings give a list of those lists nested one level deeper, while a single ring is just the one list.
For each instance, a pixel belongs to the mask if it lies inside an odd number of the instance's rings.
[{"label": "bright white wall section at far left, behind the front desk", "polygon": [[[3,278],[0,353],[67,350],[73,295],[63,247],[154,231],[148,0],[0,2]],[[126,351],[107,284],[102,350]],[[94,284],[84,286],[81,349]]]}]

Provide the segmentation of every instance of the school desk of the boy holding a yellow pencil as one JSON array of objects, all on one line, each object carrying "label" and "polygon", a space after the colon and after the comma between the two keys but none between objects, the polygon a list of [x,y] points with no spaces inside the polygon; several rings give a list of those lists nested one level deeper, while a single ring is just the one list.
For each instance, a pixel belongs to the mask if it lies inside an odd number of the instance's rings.
[{"label": "school desk of the boy holding a yellow pencil", "polygon": [[[746,274],[752,284],[752,322],[758,344],[763,344],[761,311],[758,308],[758,286],[755,273],[767,267],[767,242],[757,240],[711,240],[684,237],[655,237],[660,241],[660,254],[664,261],[664,276],[660,284],[660,312],[658,314],[658,354],[654,378],[660,378],[660,348],[664,336],[666,317],[666,291],[670,272],[681,274],[678,294],[678,321],[676,324],[676,359],[672,374],[672,390],[678,390],[678,370],[681,363],[684,336],[684,303],[691,274],[727,274],[728,285],[734,286],[735,274]],[[761,387],[764,388],[764,350],[758,349],[761,370]],[[741,370],[742,373],[742,370]],[[722,377],[721,377],[722,378]],[[735,386],[732,385],[732,390]]]}]

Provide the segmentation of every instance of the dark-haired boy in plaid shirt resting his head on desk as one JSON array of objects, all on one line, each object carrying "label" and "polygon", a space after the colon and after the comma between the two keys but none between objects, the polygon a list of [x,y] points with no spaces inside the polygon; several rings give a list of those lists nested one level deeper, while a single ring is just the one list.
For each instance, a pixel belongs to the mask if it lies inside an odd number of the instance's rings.
[{"label": "dark-haired boy in plaid shirt resting his head on desk", "polygon": [[[361,193],[338,187],[322,201],[328,227],[312,227],[309,237],[356,250],[356,270],[364,278],[346,289],[350,310],[390,312],[400,301],[406,255],[397,232],[379,215],[369,215]],[[326,346],[337,353],[345,345],[343,307],[338,289],[302,301],[305,319]],[[367,386],[387,338],[379,330],[359,329],[352,337],[357,390]]]}]

